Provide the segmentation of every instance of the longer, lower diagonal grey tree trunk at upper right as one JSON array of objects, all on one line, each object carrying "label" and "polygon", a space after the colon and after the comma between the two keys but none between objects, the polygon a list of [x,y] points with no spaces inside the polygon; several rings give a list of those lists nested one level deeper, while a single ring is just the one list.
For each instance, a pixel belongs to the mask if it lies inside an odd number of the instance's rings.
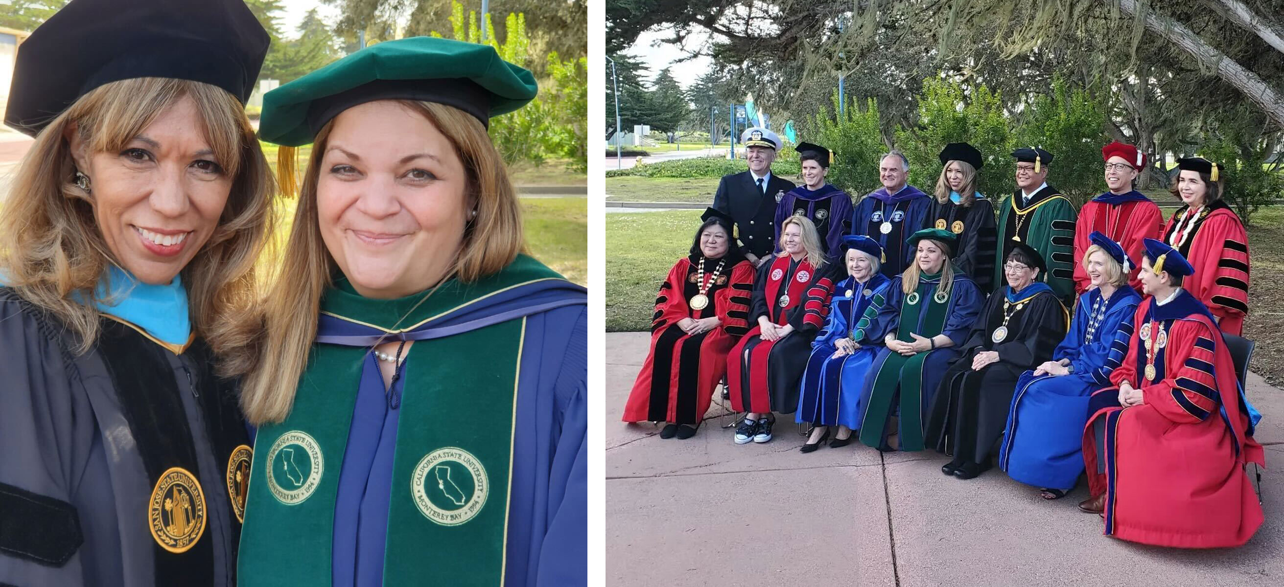
[{"label": "longer, lower diagonal grey tree trunk at upper right", "polygon": [[[1136,17],[1136,0],[1118,1],[1120,9],[1125,14],[1134,18]],[[1261,108],[1272,122],[1284,127],[1284,98],[1281,98],[1275,89],[1262,81],[1261,77],[1257,77],[1256,73],[1245,69],[1234,59],[1213,49],[1211,45],[1204,42],[1203,39],[1186,28],[1185,24],[1161,15],[1153,9],[1148,9],[1145,13],[1145,28],[1181,48],[1199,60],[1199,63],[1204,67],[1215,69],[1217,72],[1217,77],[1221,77],[1222,81],[1242,91],[1244,96],[1257,104],[1257,107]]]}]

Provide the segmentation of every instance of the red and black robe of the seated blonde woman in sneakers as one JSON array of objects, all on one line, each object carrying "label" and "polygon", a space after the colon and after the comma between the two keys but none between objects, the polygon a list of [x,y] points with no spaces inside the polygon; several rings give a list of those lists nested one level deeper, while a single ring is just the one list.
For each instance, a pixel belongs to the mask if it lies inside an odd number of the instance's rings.
[{"label": "red and black robe of the seated blonde woman in sneakers", "polygon": [[[833,267],[833,263],[824,263],[818,270],[805,259],[795,265],[785,256],[759,271],[749,312],[752,328],[727,355],[732,410],[759,414],[797,410],[799,381],[806,369],[811,340],[828,313]],[[783,295],[788,295],[788,301],[782,306]],[[782,326],[791,324],[794,333],[767,340],[760,335],[759,316]]]}]

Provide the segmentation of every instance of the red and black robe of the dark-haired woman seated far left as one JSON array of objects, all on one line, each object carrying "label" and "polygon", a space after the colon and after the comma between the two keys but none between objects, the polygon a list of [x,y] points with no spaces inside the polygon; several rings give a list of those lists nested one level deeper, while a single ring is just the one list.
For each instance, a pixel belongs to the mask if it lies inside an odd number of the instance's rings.
[{"label": "red and black robe of the dark-haired woman seated far left", "polygon": [[[727,352],[747,330],[749,303],[754,288],[754,265],[740,261],[723,267],[716,280],[716,261],[705,261],[705,281],[713,280],[704,310],[692,310],[690,299],[700,293],[700,271],[690,258],[678,259],[660,285],[651,324],[647,353],[624,405],[624,421],[669,421],[696,425],[709,411],[714,389],[727,375]],[[722,325],[690,335],[678,328],[682,319],[716,316]]]}]

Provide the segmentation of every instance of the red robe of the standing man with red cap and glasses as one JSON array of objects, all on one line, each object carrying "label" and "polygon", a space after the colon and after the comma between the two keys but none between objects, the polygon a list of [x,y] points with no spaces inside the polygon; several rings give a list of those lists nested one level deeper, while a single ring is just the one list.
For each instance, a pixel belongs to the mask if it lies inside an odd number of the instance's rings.
[{"label": "red robe of the standing man with red cap and glasses", "polygon": [[1079,211],[1079,220],[1075,222],[1075,295],[1082,295],[1091,284],[1088,271],[1084,270],[1084,253],[1093,245],[1089,235],[1100,231],[1111,240],[1124,247],[1132,259],[1134,267],[1129,272],[1127,284],[1132,289],[1141,292],[1141,281],[1136,274],[1141,270],[1141,253],[1145,248],[1141,240],[1158,239],[1163,232],[1163,212],[1149,199],[1125,202],[1122,204],[1107,204],[1104,202],[1088,202]]}]

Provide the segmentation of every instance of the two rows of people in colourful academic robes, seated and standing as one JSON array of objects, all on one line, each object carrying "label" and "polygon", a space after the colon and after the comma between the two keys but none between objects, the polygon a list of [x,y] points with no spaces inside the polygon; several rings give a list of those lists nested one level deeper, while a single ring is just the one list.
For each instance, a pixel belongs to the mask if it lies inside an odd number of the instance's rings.
[{"label": "two rows of people in colourful academic robes, seated and standing", "polygon": [[[1079,507],[1124,539],[1253,534],[1262,513],[1244,468],[1265,465],[1261,416],[1222,340],[1248,313],[1248,247],[1220,164],[1177,159],[1184,206],[1165,223],[1135,189],[1147,155],[1118,141],[1102,149],[1108,191],[1076,209],[1037,146],[1012,153],[1017,189],[998,206],[976,189],[986,158],[966,143],[941,149],[932,195],[907,185],[910,162],[891,152],[882,186],[853,206],[824,182],[823,146],[799,144],[805,185],[774,189],[779,137],[743,140],[750,171],[723,177],[660,288],[625,421],[690,438],[725,375],[745,414],[737,444],[769,442],[776,414],[794,414],[811,426],[804,453],[932,448],[946,475],[998,464],[1045,500],[1086,477]],[[725,250],[704,247],[710,230]],[[728,263],[740,270],[719,277]],[[719,279],[728,290],[710,302]]]}]

